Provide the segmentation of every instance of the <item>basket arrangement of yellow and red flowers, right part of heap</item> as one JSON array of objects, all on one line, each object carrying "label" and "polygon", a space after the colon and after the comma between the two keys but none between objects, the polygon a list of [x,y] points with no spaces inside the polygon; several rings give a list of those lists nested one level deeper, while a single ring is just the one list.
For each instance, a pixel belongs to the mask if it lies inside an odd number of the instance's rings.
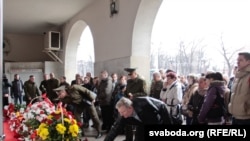
[{"label": "basket arrangement of yellow and red flowers, right part of heap", "polygon": [[45,118],[37,130],[43,141],[78,141],[79,124],[66,109],[59,108]]}]

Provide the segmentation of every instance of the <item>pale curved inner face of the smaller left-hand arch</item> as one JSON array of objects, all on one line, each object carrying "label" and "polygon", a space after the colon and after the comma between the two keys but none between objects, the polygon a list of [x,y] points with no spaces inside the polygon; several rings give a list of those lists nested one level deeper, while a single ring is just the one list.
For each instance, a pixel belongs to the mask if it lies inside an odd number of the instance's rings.
[{"label": "pale curved inner face of the smaller left-hand arch", "polygon": [[82,32],[86,26],[87,24],[84,21],[76,21],[72,25],[68,35],[65,46],[64,74],[69,78],[69,80],[74,79],[75,74],[77,73],[76,52]]}]

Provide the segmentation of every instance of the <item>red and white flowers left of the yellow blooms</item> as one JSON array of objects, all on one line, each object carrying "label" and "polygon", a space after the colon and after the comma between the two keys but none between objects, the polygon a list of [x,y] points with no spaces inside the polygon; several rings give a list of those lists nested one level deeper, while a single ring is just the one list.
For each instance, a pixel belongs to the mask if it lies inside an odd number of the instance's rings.
[{"label": "red and white flowers left of the yellow blooms", "polygon": [[40,123],[47,116],[55,111],[55,106],[48,100],[46,95],[42,97],[43,101],[29,104],[23,112],[12,112],[10,118],[10,129],[14,131],[19,140],[32,140],[37,137],[36,130]]}]

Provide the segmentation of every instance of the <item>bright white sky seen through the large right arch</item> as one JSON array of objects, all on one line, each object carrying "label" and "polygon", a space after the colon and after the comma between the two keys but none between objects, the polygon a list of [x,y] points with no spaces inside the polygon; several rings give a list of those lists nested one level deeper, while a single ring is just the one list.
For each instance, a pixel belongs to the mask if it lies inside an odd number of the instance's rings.
[{"label": "bright white sky seen through the large right arch", "polygon": [[163,0],[152,42],[162,42],[165,49],[176,53],[180,40],[205,39],[209,58],[218,53],[215,48],[218,49],[222,34],[226,47],[245,46],[249,51],[249,6],[250,0]]}]

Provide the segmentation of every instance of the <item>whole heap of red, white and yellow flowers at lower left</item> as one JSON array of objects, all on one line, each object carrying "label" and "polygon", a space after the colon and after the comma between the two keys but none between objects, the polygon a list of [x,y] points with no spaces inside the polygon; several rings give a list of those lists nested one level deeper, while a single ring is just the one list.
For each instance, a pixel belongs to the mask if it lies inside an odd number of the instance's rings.
[{"label": "whole heap of red, white and yellow flowers at lower left", "polygon": [[73,115],[61,103],[56,109],[46,95],[36,99],[41,98],[27,107],[14,104],[5,107],[15,137],[20,141],[78,141],[81,125]]}]

